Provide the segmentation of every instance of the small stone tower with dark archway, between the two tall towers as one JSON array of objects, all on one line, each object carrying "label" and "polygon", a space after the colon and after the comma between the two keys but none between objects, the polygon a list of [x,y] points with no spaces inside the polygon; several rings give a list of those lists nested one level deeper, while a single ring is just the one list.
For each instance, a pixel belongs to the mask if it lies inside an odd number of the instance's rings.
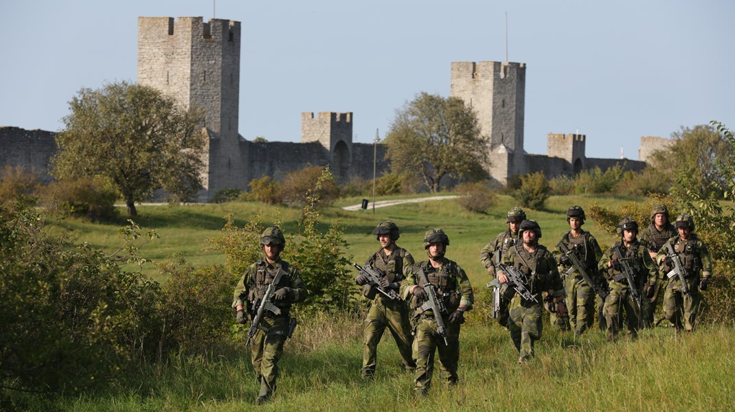
[{"label": "small stone tower with dark archway, between the two tall towers", "polygon": [[301,113],[301,142],[320,142],[329,153],[329,167],[334,176],[346,181],[352,159],[352,112]]}]

